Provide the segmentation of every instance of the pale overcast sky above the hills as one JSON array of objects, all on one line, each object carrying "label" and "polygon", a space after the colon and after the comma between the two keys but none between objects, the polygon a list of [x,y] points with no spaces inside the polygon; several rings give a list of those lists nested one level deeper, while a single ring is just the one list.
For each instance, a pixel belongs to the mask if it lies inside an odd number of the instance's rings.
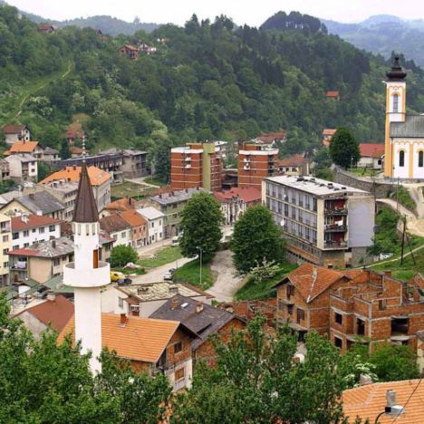
[{"label": "pale overcast sky above the hills", "polygon": [[[372,14],[424,18],[422,0],[6,0],[21,10],[54,20],[109,14],[132,22],[184,24],[195,13],[199,19],[226,14],[236,24],[259,26],[279,10],[292,10],[340,22],[360,22]],[[400,6],[401,5],[401,6]]]}]

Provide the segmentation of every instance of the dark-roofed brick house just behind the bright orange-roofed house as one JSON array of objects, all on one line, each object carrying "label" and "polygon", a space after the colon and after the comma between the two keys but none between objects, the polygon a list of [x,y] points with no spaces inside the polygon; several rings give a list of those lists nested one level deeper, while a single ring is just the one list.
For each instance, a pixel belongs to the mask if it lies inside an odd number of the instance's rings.
[{"label": "dark-roofed brick house just behind the bright orange-roofed house", "polygon": [[222,342],[229,341],[232,332],[242,330],[246,322],[234,313],[219,309],[210,304],[203,304],[192,297],[176,294],[166,304],[150,315],[159,320],[178,321],[189,330],[198,334],[192,344],[192,355],[196,361],[202,359],[209,365],[216,361],[215,348],[208,337],[217,334]]}]

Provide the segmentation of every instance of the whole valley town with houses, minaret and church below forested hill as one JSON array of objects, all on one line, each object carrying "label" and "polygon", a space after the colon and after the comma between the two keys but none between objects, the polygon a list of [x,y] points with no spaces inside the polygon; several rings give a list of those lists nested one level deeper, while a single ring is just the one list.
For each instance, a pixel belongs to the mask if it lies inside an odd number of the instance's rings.
[{"label": "whole valley town with houses, minaret and church below forested hill", "polygon": [[[115,50],[133,63],[169,43]],[[0,356],[26,376],[22,407],[8,391],[0,421],[21,422],[39,375],[57,399],[37,422],[66,422],[69,401],[69,422],[419,423],[424,116],[409,113],[409,72],[394,55],[381,74],[380,142],[341,121],[313,149],[275,127],[164,143],[158,157],[100,149],[85,119],[54,147],[19,114],[5,121]]]}]

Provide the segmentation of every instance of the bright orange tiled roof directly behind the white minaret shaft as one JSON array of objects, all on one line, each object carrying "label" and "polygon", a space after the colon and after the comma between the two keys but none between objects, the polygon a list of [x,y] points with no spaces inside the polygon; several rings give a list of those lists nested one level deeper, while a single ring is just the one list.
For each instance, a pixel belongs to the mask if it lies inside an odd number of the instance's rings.
[{"label": "bright orange tiled roof directly behind the white minaret shaft", "polygon": [[[179,325],[177,321],[130,316],[125,326],[121,326],[120,315],[101,313],[101,344],[115,351],[120,358],[156,363]],[[72,317],[59,334],[57,342],[62,343],[70,333],[73,339],[74,329]]]}]

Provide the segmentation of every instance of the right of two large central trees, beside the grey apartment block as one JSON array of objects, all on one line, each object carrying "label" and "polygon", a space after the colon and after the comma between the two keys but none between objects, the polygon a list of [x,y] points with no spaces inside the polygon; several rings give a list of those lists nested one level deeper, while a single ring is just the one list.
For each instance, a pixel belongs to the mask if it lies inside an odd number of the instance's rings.
[{"label": "right of two large central trees, beside the grey apartment block", "polygon": [[249,207],[234,227],[231,248],[234,265],[243,274],[264,260],[284,259],[284,240],[271,212],[262,205]]}]

